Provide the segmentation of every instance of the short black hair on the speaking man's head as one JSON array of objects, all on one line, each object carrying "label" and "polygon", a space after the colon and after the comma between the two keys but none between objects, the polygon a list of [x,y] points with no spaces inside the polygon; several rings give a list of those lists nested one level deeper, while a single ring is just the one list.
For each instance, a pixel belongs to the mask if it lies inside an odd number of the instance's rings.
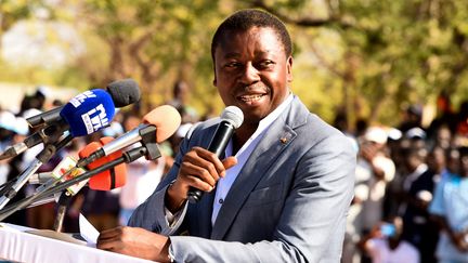
[{"label": "short black hair on the speaking man's head", "polygon": [[292,44],[289,32],[283,22],[276,16],[257,9],[240,10],[229,16],[214,32],[211,41],[211,57],[214,62],[214,52],[221,38],[226,31],[243,32],[252,27],[272,28],[278,40],[283,43],[286,57],[292,54]]}]

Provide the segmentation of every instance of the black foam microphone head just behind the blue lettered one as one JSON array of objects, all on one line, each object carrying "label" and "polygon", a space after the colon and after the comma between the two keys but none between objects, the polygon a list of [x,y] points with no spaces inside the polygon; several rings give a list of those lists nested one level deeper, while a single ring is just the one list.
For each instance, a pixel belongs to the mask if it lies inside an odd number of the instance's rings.
[{"label": "black foam microphone head just behind the blue lettered one", "polygon": [[116,80],[106,87],[116,107],[125,107],[140,101],[140,87],[133,79]]}]

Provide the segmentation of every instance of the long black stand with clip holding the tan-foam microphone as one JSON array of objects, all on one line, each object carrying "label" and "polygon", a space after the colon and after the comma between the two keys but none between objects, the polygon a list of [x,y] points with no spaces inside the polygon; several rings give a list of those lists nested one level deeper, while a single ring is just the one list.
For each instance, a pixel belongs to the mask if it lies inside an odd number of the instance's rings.
[{"label": "long black stand with clip holding the tan-foam microphone", "polygon": [[142,156],[146,156],[147,160],[155,160],[161,156],[159,148],[156,144],[156,127],[148,126],[141,130],[142,140],[141,143],[143,146],[140,146],[134,149],[130,149],[122,154],[121,157],[114,159],[109,162],[106,162],[105,165],[88,171],[83,174],[80,174],[72,180],[68,180],[66,182],[63,182],[58,185],[49,185],[40,193],[37,193],[36,195],[32,195],[28,198],[23,199],[22,201],[15,202],[3,210],[0,210],[0,222],[13,214],[14,212],[26,208],[30,203],[35,202],[36,200],[39,200],[41,198],[48,197],[50,195],[54,195],[58,192],[62,192],[69,186],[77,184],[83,180],[90,179],[91,176],[99,174],[101,172],[104,172],[115,166],[118,166],[122,162],[130,163],[136,159],[139,159]]}]

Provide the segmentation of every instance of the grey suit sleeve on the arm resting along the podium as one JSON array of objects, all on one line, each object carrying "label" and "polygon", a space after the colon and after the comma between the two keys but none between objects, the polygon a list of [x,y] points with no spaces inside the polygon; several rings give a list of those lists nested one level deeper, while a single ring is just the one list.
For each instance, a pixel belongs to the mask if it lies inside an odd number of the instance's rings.
[{"label": "grey suit sleeve on the arm resting along the podium", "polygon": [[355,152],[342,134],[333,134],[300,160],[291,160],[298,165],[289,171],[294,182],[273,240],[240,244],[172,236],[176,262],[339,262]]}]

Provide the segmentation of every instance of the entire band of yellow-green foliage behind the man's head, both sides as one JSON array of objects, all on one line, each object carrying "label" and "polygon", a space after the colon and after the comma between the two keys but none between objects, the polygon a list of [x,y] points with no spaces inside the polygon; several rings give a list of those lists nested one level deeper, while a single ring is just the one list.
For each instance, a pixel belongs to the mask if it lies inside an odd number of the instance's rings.
[{"label": "entire band of yellow-green foliage behind the man's head, both sides", "polygon": [[[442,90],[456,104],[468,98],[466,0],[48,2],[0,1],[0,36],[46,9],[48,19],[76,25],[87,51],[68,68],[25,70],[28,81],[86,88],[132,77],[150,107],[169,100],[173,82],[183,79],[198,111],[220,111],[220,100],[212,100],[211,36],[233,11],[261,8],[290,29],[292,91],[327,121],[340,109],[350,122],[365,117],[396,124],[403,106],[433,104]],[[0,69],[2,80],[22,76],[1,63]]]}]

